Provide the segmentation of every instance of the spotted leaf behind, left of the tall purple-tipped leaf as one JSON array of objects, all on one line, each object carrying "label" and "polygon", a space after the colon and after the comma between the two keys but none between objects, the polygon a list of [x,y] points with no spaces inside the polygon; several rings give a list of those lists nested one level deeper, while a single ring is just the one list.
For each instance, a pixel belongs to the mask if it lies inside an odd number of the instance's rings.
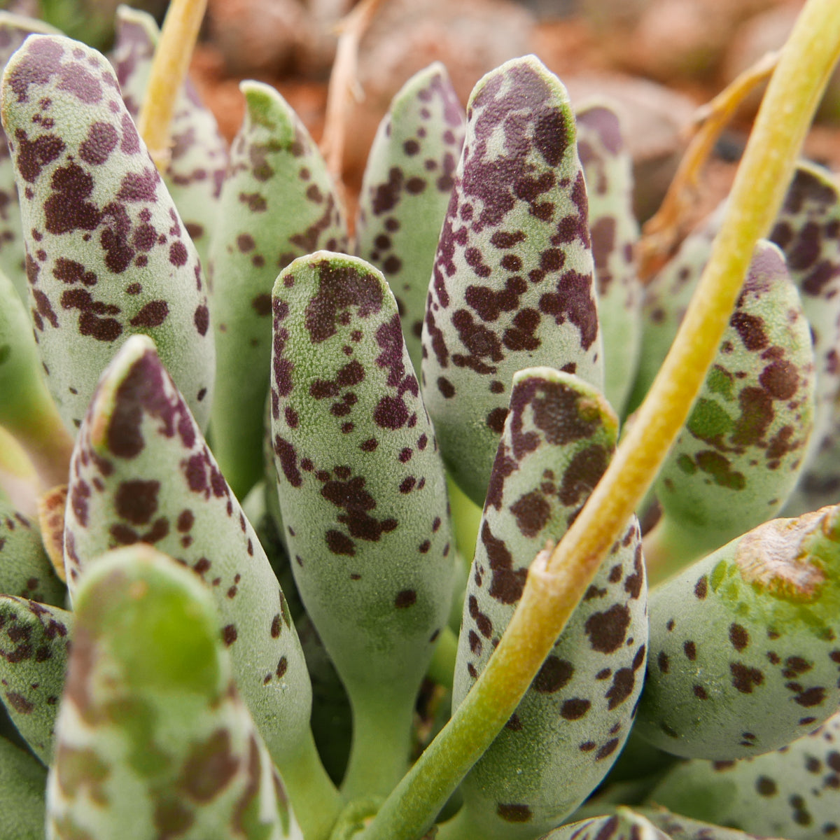
[{"label": "spotted leaf behind, left of the tall purple-tipped leaf", "polygon": [[356,253],[385,274],[417,375],[428,278],[464,144],[464,123],[444,66],[427,67],[391,102],[362,181]]}]

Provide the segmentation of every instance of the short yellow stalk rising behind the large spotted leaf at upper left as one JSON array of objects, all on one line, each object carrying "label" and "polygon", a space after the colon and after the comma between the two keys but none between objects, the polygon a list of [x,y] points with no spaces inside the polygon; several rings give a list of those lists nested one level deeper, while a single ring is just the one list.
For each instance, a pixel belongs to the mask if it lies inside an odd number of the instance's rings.
[{"label": "short yellow stalk rising behind the large spotted leaf at upper left", "polygon": [[172,0],[155,50],[137,128],[161,172],[169,164],[176,97],[186,79],[206,8],[207,0]]}]

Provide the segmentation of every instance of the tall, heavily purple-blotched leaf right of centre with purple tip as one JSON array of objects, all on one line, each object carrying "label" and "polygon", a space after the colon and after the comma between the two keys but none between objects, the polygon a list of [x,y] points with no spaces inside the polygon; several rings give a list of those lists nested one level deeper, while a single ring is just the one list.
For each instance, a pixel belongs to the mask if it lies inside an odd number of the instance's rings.
[{"label": "tall, heavily purple-blotched leaf right of centre with purple tip", "polygon": [[455,480],[483,504],[517,370],[601,387],[575,118],[533,56],[479,81],[423,324],[423,395]]}]

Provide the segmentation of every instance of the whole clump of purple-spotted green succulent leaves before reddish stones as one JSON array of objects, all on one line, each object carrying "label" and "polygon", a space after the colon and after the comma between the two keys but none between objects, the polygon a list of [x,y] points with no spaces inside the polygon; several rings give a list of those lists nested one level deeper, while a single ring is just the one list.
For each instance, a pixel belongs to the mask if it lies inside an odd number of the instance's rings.
[{"label": "whole clump of purple-spotted green succulent leaves before reddish stones", "polygon": [[0,838],[836,833],[829,174],[749,244],[645,528],[558,571],[725,211],[643,288],[620,121],[528,56],[465,111],[402,87],[351,237],[263,83],[229,153],[176,91],[159,173],[159,33],[116,32],[0,13],[0,447],[41,494],[0,497]]}]

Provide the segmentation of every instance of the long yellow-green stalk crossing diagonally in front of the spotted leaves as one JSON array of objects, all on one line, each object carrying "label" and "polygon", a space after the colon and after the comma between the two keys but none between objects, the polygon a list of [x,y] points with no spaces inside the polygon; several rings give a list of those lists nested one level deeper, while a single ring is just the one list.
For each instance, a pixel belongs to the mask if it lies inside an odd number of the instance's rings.
[{"label": "long yellow-green stalk crossing diagonally in front of the spotted leaves", "polygon": [[764,97],[711,260],[636,423],[562,543],[548,559],[543,553],[534,560],[522,600],[486,669],[362,832],[364,840],[422,837],[528,690],[685,422],[755,243],[779,211],[838,55],[840,3],[807,0]]}]

